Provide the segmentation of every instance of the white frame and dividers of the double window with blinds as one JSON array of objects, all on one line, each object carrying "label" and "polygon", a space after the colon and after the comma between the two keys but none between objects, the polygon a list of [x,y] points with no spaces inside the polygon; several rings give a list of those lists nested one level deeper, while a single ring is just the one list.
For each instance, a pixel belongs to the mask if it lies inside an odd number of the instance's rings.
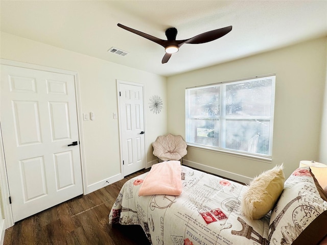
[{"label": "white frame and dividers of the double window with blinds", "polygon": [[[190,87],[185,89],[185,140],[188,143],[189,146],[195,146],[196,148],[202,148],[209,151],[218,151],[224,154],[230,154],[230,155],[237,155],[240,157],[246,157],[251,159],[258,159],[258,160],[264,160],[264,161],[271,161],[272,160],[272,138],[273,138],[273,120],[274,120],[274,96],[275,96],[275,74],[269,74],[264,76],[257,76],[252,78],[246,78],[246,79],[240,79],[240,80],[233,80],[233,81],[227,81],[227,82],[221,82],[221,83],[215,83],[215,84],[208,84],[208,85],[202,85],[202,86],[196,86],[196,87]],[[238,151],[238,150],[231,150],[225,148],[225,142],[226,142],[226,127],[225,122],[226,119],[236,119],[233,115],[226,115],[225,114],[225,107],[226,103],[224,102],[225,98],[225,88],[228,84],[237,84],[237,83],[245,83],[245,82],[252,82],[252,81],[261,81],[263,79],[271,79],[272,85],[271,85],[271,104],[270,104],[270,110],[271,113],[269,116],[263,115],[263,116],[244,116],[241,119],[252,119],[252,120],[269,120],[270,127],[269,127],[269,150],[268,154],[256,154],[252,152],[246,152],[246,151]],[[220,127],[219,127],[219,147],[218,146],[212,146],[207,144],[201,144],[196,142],[191,142],[190,140],[190,133],[188,132],[191,130],[191,120],[193,119],[202,119],[202,118],[192,118],[192,116],[189,116],[189,108],[190,102],[189,102],[189,91],[196,90],[196,89],[203,89],[203,88],[209,88],[209,87],[215,87],[220,86],[220,115],[217,117],[217,120],[220,121]],[[222,102],[223,101],[223,102]],[[205,118],[203,118],[205,119]],[[238,116],[237,119],[240,119]],[[268,132],[268,131],[267,131]]]}]

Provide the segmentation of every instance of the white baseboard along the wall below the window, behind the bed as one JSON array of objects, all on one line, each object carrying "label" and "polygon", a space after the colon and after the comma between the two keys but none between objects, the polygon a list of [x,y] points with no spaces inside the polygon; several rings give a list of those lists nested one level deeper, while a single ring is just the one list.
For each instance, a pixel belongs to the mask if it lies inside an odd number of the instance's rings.
[{"label": "white baseboard along the wall below the window, behind the bed", "polygon": [[247,176],[243,176],[243,175],[239,175],[239,174],[235,174],[226,170],[222,170],[216,167],[211,167],[211,166],[207,166],[207,165],[203,165],[201,163],[197,163],[197,162],[192,162],[189,160],[183,160],[183,165],[185,166],[190,166],[190,167],[194,167],[203,171],[207,171],[209,173],[213,173],[215,175],[219,175],[221,177],[225,177],[227,179],[231,179],[231,180],[236,180],[245,184],[249,184],[251,180],[253,180],[250,177]]}]

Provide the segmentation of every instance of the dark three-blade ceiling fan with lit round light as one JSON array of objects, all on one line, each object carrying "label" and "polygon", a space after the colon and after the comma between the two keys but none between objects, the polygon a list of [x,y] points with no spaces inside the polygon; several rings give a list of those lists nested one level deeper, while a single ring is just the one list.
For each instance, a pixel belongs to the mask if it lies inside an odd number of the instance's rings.
[{"label": "dark three-blade ceiling fan with lit round light", "polygon": [[151,36],[149,34],[134,30],[132,28],[126,27],[123,24],[118,23],[117,26],[130,31],[132,33],[135,33],[139,36],[142,36],[144,38],[147,38],[155,43],[160,44],[161,46],[165,47],[165,52],[166,54],[164,55],[164,58],[162,58],[161,63],[167,63],[168,60],[170,59],[170,57],[172,56],[172,54],[178,52],[178,49],[181,45],[183,45],[184,43],[191,43],[191,44],[198,44],[198,43],[205,43],[205,42],[211,42],[214,41],[224,35],[226,35],[228,32],[231,31],[231,26],[229,27],[224,27],[224,28],[220,28],[220,29],[216,29],[213,31],[208,31],[202,34],[199,34],[195,37],[189,38],[189,39],[184,39],[184,40],[176,40],[176,36],[177,36],[177,29],[172,27],[172,28],[168,28],[166,30],[166,37],[167,40],[162,40],[160,38]]}]

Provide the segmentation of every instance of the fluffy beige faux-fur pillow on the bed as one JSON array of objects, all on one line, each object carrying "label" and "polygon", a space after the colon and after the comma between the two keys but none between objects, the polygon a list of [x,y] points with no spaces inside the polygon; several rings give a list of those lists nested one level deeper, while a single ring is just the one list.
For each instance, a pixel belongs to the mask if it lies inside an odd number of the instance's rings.
[{"label": "fluffy beige faux-fur pillow on the bed", "polygon": [[283,164],[255,177],[242,197],[242,211],[247,218],[259,219],[275,205],[284,189]]}]

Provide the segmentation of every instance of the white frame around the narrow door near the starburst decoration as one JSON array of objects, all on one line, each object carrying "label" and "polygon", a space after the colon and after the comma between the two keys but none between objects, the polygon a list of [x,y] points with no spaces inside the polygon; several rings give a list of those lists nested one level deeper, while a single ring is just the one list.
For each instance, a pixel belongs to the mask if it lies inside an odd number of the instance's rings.
[{"label": "white frame around the narrow door near the starburst decoration", "polygon": [[[120,103],[120,89],[119,85],[120,84],[127,84],[127,85],[134,85],[134,86],[139,86],[142,87],[143,90],[143,121],[144,121],[144,131],[147,132],[146,128],[146,110],[145,110],[145,84],[142,83],[135,83],[135,82],[129,82],[129,81],[123,81],[116,79],[116,88],[117,88],[117,106],[118,106],[118,128],[119,128],[119,148],[120,148],[120,159],[121,159],[121,173],[122,173],[122,179],[124,178],[124,164],[123,164],[123,144],[122,144],[122,126],[121,126],[121,103]],[[147,145],[147,134],[145,134],[144,137],[144,167],[147,167],[147,151],[146,151],[146,145]]]}]

